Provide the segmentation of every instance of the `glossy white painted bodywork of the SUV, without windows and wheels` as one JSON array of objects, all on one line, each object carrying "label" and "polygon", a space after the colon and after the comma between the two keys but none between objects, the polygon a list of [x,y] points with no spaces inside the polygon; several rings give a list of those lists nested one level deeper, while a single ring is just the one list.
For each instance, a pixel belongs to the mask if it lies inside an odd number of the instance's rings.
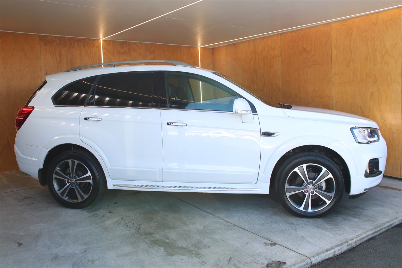
[{"label": "glossy white painted bodywork of the SUV, without windows and wheels", "polygon": [[[253,103],[257,113],[55,107],[51,102],[55,91],[78,79],[152,70],[214,79]],[[378,128],[375,122],[337,111],[271,107],[208,70],[167,65],[117,66],[54,74],[47,76],[47,81],[29,104],[35,109],[18,130],[14,146],[20,170],[36,179],[47,153],[59,144],[76,144],[92,153],[110,189],[267,194],[279,159],[304,145],[326,147],[342,157],[351,174],[351,194],[365,192],[383,176],[365,178],[364,172],[372,158],[379,158],[384,171],[384,139],[358,144],[350,131],[355,126]],[[102,120],[84,120],[86,117]],[[244,117],[252,120],[245,121]],[[169,122],[179,124],[168,125]],[[261,131],[275,135],[261,136]]]}]

